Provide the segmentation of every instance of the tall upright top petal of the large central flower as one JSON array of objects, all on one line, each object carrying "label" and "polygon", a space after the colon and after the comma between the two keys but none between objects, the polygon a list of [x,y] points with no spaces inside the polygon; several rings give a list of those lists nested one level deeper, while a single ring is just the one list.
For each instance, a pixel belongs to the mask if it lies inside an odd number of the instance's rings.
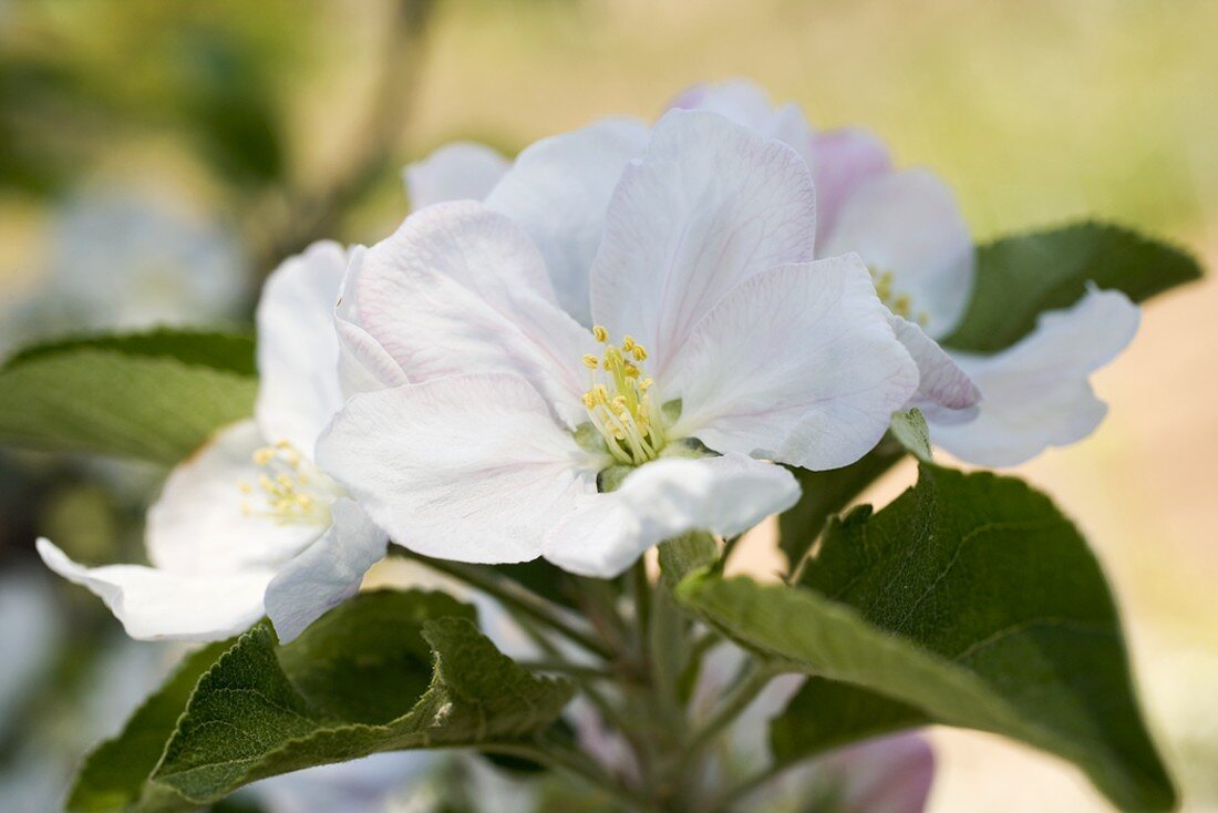
[{"label": "tall upright top petal of the large central flower", "polygon": [[592,313],[665,374],[727,291],[812,258],[815,193],[803,158],[722,116],[674,110],[626,167],[592,269]]}]

